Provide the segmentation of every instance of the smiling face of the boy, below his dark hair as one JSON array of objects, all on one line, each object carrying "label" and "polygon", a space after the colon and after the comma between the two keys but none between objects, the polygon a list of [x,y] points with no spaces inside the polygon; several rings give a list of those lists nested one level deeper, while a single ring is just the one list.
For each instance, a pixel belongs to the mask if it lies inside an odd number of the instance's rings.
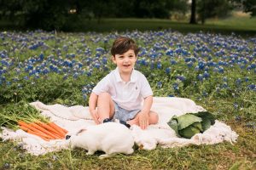
[{"label": "smiling face of the boy, below his dark hair", "polygon": [[120,73],[131,73],[137,56],[133,49],[129,49],[124,54],[115,54],[112,57],[113,63],[119,67]]}]

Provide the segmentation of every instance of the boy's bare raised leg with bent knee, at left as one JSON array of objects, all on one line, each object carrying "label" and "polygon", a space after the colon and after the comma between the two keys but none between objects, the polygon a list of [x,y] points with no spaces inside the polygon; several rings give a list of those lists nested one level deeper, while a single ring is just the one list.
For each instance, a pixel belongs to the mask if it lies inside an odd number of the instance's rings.
[{"label": "boy's bare raised leg with bent knee, at left", "polygon": [[97,100],[97,112],[99,115],[99,121],[102,123],[104,119],[113,117],[114,104],[111,96],[108,93],[102,93],[98,96]]}]

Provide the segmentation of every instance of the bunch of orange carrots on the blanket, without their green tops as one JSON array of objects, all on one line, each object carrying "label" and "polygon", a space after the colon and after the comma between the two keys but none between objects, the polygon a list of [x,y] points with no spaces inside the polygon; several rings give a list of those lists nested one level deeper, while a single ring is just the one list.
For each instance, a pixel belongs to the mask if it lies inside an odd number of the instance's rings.
[{"label": "bunch of orange carrots on the blanket, without their green tops", "polygon": [[54,122],[26,123],[26,122],[18,121],[18,124],[22,130],[26,131],[26,133],[37,135],[38,137],[46,141],[49,141],[49,139],[64,139],[67,133],[67,130],[59,127]]}]

